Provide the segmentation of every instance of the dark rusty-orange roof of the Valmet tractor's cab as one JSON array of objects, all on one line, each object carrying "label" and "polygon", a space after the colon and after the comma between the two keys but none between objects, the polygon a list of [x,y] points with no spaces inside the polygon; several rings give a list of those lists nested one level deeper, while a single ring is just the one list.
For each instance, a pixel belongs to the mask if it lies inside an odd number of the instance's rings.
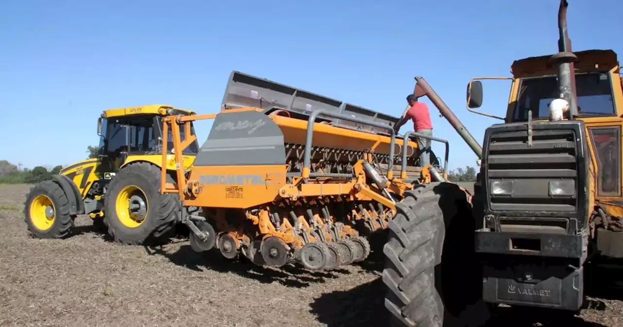
[{"label": "dark rusty-orange roof of the Valmet tractor's cab", "polygon": [[[574,64],[576,72],[611,70],[619,65],[617,54],[613,50],[584,50],[573,53],[578,56],[578,62]],[[556,75],[556,65],[550,58],[551,55],[541,55],[515,60],[511,65],[511,73],[514,77]],[[618,69],[615,73],[617,72]]]}]

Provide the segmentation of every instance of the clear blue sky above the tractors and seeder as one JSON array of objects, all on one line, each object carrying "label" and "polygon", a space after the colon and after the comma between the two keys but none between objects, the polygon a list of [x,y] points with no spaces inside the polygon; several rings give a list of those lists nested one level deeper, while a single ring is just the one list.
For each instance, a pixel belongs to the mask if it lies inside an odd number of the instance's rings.
[{"label": "clear blue sky above the tractors and seeder", "polygon": [[[396,116],[421,75],[482,141],[497,120],[466,110],[466,84],[556,52],[557,11],[558,0],[4,0],[0,159],[29,168],[84,159],[107,108],[215,112],[232,70]],[[573,49],[623,54],[622,12],[622,1],[570,0]],[[484,86],[482,110],[503,116],[508,83]],[[450,141],[450,168],[475,166],[430,109],[434,135]],[[197,124],[200,143],[209,126]]]}]

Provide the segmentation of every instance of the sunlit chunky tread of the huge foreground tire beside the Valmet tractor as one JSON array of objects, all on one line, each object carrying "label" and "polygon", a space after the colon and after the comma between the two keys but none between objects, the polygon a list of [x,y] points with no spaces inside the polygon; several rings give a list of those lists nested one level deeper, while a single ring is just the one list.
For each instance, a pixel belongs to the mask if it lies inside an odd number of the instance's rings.
[{"label": "sunlit chunky tread of the huge foreground tire beside the Valmet tractor", "polygon": [[389,221],[382,280],[391,326],[442,326],[444,307],[435,289],[435,266],[441,261],[444,218],[456,211],[442,209],[445,204],[440,202],[457,196],[445,184],[435,182],[407,191]]}]

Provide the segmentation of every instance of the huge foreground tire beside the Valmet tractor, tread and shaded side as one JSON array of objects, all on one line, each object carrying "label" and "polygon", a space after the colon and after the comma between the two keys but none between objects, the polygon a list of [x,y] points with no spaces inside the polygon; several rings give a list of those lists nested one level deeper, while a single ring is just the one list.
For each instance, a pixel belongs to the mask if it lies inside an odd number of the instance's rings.
[{"label": "huge foreground tire beside the Valmet tractor, tread and shaded side", "polygon": [[474,219],[456,184],[406,193],[389,224],[383,282],[390,326],[480,326],[488,319],[474,244]]}]

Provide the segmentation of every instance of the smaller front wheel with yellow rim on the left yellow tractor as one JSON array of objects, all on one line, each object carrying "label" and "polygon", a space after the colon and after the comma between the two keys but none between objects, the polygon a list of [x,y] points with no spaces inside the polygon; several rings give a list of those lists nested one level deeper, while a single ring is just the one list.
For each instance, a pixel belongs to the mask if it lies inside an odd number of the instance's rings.
[{"label": "smaller front wheel with yellow rim on the left yellow tractor", "polygon": [[67,194],[54,181],[32,187],[24,202],[24,216],[29,232],[39,239],[66,237],[75,218],[69,214]]}]

